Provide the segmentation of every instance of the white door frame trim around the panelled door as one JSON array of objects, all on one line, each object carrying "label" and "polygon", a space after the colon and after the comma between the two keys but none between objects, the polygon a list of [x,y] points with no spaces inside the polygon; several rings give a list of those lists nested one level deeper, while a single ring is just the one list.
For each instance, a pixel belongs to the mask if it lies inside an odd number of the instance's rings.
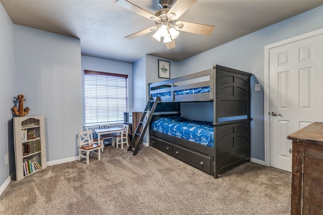
[{"label": "white door frame trim around the panelled door", "polygon": [[[323,28],[264,46],[264,165],[271,166],[270,146],[270,50],[278,46],[323,34]],[[286,137],[287,138],[287,137]]]}]

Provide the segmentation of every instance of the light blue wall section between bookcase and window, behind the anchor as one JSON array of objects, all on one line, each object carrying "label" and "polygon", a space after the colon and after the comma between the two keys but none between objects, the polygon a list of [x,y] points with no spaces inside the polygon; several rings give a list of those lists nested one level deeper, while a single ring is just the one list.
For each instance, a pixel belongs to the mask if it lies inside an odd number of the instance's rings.
[{"label": "light blue wall section between bookcase and window, behind the anchor", "polygon": [[15,31],[15,96],[25,96],[28,116],[45,116],[47,162],[75,157],[83,123],[80,40],[20,25]]}]

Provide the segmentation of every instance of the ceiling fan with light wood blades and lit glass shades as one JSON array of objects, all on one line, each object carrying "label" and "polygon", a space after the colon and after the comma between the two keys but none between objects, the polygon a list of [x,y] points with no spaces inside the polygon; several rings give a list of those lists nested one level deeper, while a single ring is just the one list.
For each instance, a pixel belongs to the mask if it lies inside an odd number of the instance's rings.
[{"label": "ceiling fan with light wood blades and lit glass shades", "polygon": [[[159,0],[159,10],[155,15],[139,8],[128,0],[117,0],[116,3],[134,13],[137,13],[149,20],[155,22],[155,26],[149,27],[145,30],[126,36],[127,39],[134,39],[136,37],[145,35],[155,31],[153,38],[160,41],[164,37],[166,48],[175,48],[175,38],[178,37],[179,31],[190,32],[194,34],[210,35],[214,26],[203,25],[198,23],[177,21],[197,0]],[[175,3],[174,3],[175,2]],[[174,3],[174,4],[173,4]]]}]

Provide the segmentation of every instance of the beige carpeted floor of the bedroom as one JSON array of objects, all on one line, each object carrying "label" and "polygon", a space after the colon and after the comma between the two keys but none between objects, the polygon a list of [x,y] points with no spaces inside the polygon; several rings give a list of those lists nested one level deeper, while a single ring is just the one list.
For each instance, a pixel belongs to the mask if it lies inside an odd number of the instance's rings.
[{"label": "beige carpeted floor of the bedroom", "polygon": [[245,163],[207,175],[152,147],[105,147],[101,160],[12,181],[0,214],[290,214],[290,173]]}]

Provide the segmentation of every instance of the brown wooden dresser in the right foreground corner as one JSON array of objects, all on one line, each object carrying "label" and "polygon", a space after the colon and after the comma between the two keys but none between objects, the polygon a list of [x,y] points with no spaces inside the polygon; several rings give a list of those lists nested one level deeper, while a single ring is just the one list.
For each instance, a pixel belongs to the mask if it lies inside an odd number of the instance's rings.
[{"label": "brown wooden dresser in the right foreground corner", "polygon": [[287,138],[293,140],[291,214],[323,214],[323,122]]}]

